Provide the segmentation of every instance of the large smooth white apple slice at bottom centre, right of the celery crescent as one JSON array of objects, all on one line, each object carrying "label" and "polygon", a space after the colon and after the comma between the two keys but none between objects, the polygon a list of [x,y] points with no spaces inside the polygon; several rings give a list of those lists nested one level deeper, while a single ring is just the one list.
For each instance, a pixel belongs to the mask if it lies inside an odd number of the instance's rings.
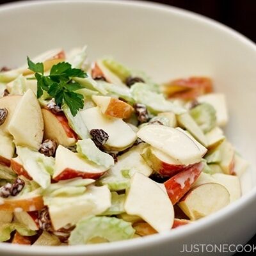
[{"label": "large smooth white apple slice at bottom centre, right of the celery crescent", "polygon": [[140,216],[157,232],[166,232],[173,225],[173,205],[168,196],[154,180],[138,172],[132,176],[124,209],[128,214]]}]

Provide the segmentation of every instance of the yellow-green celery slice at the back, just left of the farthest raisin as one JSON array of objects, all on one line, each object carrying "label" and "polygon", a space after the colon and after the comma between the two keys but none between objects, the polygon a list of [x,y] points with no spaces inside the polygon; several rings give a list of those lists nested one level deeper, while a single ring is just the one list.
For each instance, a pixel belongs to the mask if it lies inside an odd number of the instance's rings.
[{"label": "yellow-green celery slice at the back, just left of the farthest raisin", "polygon": [[125,83],[127,77],[131,76],[130,70],[116,60],[110,58],[104,59],[102,60],[102,63],[106,68],[118,76],[123,83]]}]

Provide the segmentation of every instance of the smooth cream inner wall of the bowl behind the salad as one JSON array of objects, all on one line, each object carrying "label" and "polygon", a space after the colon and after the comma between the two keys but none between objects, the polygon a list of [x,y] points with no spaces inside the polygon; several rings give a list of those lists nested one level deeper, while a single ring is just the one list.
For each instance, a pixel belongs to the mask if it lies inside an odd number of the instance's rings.
[{"label": "smooth cream inner wall of the bowl behind the salad", "polygon": [[[132,1],[48,1],[0,9],[0,67],[48,49],[88,45],[163,82],[210,76],[227,95],[228,139],[250,162],[243,191],[256,185],[256,47],[224,26],[175,8]],[[38,5],[39,4],[39,5]]]}]

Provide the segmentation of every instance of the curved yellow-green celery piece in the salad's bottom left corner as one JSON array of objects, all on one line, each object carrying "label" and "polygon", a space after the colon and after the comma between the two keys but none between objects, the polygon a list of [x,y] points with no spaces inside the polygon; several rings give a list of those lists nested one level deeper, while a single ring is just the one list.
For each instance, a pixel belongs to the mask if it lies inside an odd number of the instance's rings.
[{"label": "curved yellow-green celery piece in the salad's bottom left corner", "polygon": [[35,230],[30,230],[21,223],[7,223],[0,227],[0,242],[9,240],[14,230],[17,230],[21,236],[34,236],[36,234]]}]

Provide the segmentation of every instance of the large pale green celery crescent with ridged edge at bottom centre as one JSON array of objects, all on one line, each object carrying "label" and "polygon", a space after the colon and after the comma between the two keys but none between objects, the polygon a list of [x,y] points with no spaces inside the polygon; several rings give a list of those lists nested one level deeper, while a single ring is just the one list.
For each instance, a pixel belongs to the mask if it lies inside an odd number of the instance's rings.
[{"label": "large pale green celery crescent with ridged edge at bottom centre", "polygon": [[71,232],[70,245],[87,244],[93,237],[102,237],[109,242],[131,239],[135,230],[131,223],[115,217],[91,217],[81,220]]}]

